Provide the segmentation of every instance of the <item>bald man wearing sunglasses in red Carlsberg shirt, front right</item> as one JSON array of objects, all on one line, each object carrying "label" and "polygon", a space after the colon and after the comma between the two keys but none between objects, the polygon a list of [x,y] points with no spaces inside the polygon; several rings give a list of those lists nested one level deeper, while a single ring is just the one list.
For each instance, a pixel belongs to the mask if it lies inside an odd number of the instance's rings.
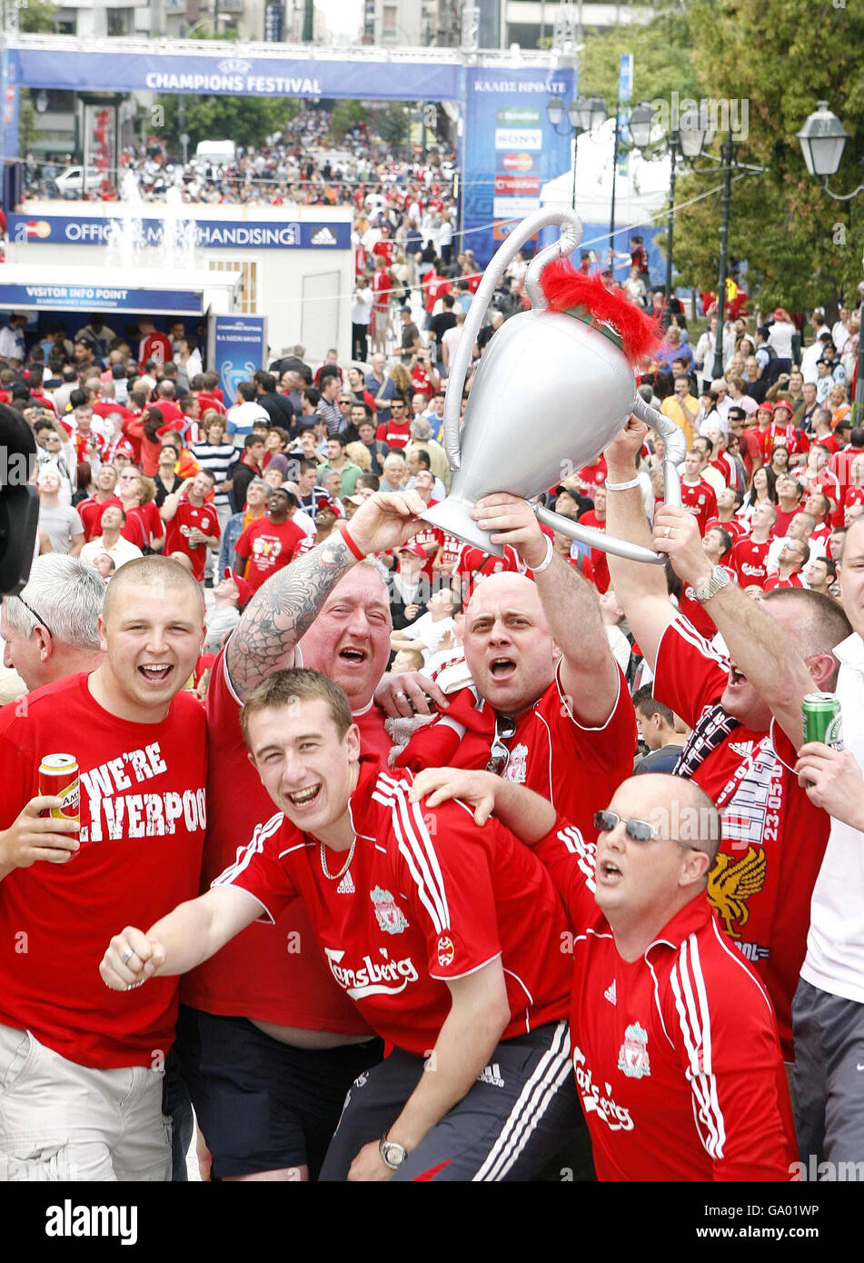
[{"label": "bald man wearing sunglasses in red Carlsberg shirt, front right", "polygon": [[645,774],[595,812],[596,845],[538,794],[429,769],[412,797],[459,797],[536,847],[572,927],[570,1029],[600,1180],[787,1181],[796,1159],[767,991],[706,898],[720,815],[699,786]]}]

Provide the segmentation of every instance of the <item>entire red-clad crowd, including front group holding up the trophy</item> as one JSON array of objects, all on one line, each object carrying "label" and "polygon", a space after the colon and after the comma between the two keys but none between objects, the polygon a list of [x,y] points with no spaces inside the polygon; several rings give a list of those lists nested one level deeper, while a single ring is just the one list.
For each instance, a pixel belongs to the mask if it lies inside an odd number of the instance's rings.
[{"label": "entire red-clad crowd, including front group holding up the trophy", "polygon": [[[423,327],[374,323],[414,205],[361,234],[352,356],[236,399],[182,321],[0,331],[39,493],[0,624],[0,1178],[184,1178],[193,1110],[217,1180],[860,1178],[859,314],[740,317],[715,378],[669,312],[638,389],[682,506],[635,417],[538,498],[666,570],[504,493],[486,553],[422,518],[471,258],[409,251]],[[813,691],[845,751],[802,740]],[[78,821],[43,815],[58,749]]]}]

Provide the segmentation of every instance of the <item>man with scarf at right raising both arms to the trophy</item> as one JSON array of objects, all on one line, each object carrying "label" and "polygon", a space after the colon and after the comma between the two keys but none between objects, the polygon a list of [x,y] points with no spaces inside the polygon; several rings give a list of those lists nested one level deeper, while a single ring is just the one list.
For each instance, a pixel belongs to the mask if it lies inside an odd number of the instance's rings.
[{"label": "man with scarf at right raising both arms to the trophy", "polygon": [[[627,481],[625,471],[632,476],[643,431],[642,422],[630,418],[606,448],[615,481]],[[620,538],[651,542],[638,495],[616,493],[610,518]],[[792,995],[829,817],[791,772],[802,738],[801,697],[789,700],[789,681],[796,688],[806,681],[810,690],[831,690],[837,673],[832,649],[846,637],[848,623],[836,602],[815,592],[748,600],[711,566],[680,509],[664,505],[656,514],[653,544],[672,557],[676,573],[705,604],[731,661],[672,609],[663,573],[653,566],[613,558],[615,592],[654,672],[656,696],[693,730],[677,774],[696,781],[724,818],[709,898],[763,979],[777,1010],[783,1055],[792,1061]]]}]

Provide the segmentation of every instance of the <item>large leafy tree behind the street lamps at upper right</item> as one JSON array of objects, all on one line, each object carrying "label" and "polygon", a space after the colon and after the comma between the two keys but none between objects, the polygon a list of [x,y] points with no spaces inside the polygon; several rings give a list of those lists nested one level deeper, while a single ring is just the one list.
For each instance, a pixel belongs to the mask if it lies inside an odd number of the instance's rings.
[{"label": "large leafy tree behind the street lamps at upper right", "polygon": [[[846,141],[841,192],[858,182],[864,157],[864,14],[860,6],[826,8],[815,43],[815,13],[805,0],[688,0],[700,96],[715,101],[734,91],[747,104],[735,153],[765,173],[733,186],[729,253],[748,260],[748,290],[763,309],[796,311],[849,298],[860,280],[864,202],[834,202],[807,174],[796,133],[819,100],[841,116]],[[719,145],[715,145],[719,152]],[[676,202],[719,184],[687,177]],[[864,198],[864,195],[861,195]],[[681,279],[716,289],[720,195],[676,217],[676,265]],[[707,285],[706,285],[707,282]]]}]

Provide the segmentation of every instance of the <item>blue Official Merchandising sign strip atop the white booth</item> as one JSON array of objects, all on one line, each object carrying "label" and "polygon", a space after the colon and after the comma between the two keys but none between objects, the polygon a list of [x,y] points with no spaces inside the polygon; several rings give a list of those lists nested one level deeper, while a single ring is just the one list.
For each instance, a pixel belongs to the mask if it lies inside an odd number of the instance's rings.
[{"label": "blue Official Merchandising sign strip atop the white booth", "polygon": [[[195,220],[196,245],[231,250],[350,250],[350,224]],[[9,240],[18,244],[109,245],[116,220],[87,215],[10,215]],[[141,221],[143,244],[162,245],[163,220]]]}]

